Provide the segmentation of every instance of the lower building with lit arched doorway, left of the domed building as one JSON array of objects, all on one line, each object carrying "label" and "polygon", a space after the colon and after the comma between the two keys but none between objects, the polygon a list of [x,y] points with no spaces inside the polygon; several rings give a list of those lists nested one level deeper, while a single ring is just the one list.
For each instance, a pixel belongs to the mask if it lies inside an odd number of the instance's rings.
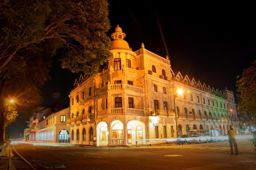
[{"label": "lower building with lit arched doorway, left of the domed building", "polygon": [[69,143],[70,108],[61,104],[39,106],[29,119],[29,141]]}]

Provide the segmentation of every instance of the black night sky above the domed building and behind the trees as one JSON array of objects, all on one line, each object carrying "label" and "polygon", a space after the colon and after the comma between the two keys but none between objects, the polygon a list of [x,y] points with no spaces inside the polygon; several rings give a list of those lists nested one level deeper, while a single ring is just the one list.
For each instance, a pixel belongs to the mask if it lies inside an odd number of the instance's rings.
[{"label": "black night sky above the domed building and behind the trees", "polygon": [[[162,57],[168,55],[172,70],[187,74],[190,80],[195,78],[206,86],[220,90],[227,87],[236,92],[237,75],[241,75],[242,70],[256,59],[256,11],[253,4],[108,2],[109,37],[118,24],[133,51],[140,49],[143,43],[150,52]],[[61,69],[60,62],[55,61],[50,76],[52,79],[43,87],[43,104],[59,102],[69,106],[68,95],[79,74]],[[18,118],[9,130],[17,129],[14,126],[18,123],[18,129],[23,133],[26,128],[26,124],[21,126],[23,122],[24,118]]]}]

